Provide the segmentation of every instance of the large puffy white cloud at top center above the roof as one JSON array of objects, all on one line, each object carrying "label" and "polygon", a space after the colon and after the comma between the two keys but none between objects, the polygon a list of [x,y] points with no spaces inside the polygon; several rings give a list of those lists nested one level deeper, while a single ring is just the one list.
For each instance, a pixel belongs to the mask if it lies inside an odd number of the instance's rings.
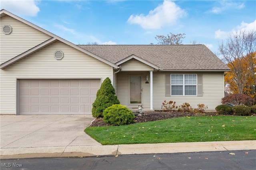
[{"label": "large puffy white cloud at top center above the roof", "polygon": [[160,29],[166,25],[174,25],[178,18],[184,16],[186,16],[185,10],[182,10],[174,2],[164,0],[163,4],[151,10],[147,16],[131,15],[128,23],[139,24],[144,29]]}]

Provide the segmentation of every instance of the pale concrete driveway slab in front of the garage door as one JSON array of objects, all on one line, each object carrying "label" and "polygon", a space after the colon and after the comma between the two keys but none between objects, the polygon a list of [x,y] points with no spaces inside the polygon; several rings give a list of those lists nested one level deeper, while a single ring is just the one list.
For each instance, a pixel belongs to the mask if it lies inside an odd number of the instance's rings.
[{"label": "pale concrete driveway slab in front of the garage door", "polygon": [[[91,115],[0,115],[0,148],[8,152],[20,149],[54,149],[68,146],[101,145],[84,129]],[[40,150],[38,151],[40,152]]]}]

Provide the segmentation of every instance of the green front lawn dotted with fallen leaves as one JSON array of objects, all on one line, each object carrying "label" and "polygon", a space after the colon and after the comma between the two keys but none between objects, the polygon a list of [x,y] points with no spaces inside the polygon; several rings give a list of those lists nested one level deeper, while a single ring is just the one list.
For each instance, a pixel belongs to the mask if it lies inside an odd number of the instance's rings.
[{"label": "green front lawn dotted with fallen leaves", "polygon": [[256,140],[256,116],[193,116],[85,132],[102,145]]}]

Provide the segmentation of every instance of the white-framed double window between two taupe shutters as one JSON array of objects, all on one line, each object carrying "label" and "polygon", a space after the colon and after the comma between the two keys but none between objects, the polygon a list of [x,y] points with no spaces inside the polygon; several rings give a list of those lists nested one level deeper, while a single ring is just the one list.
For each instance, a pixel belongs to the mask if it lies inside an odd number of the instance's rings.
[{"label": "white-framed double window between two taupe shutters", "polygon": [[196,74],[171,74],[172,96],[196,96]]}]

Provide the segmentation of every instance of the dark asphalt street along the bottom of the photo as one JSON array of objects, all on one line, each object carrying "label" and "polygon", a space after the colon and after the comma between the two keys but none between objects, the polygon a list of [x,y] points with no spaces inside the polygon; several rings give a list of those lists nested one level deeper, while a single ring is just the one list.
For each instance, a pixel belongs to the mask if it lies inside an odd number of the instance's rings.
[{"label": "dark asphalt street along the bottom of the photo", "polygon": [[256,150],[2,159],[1,170],[255,170]]}]

